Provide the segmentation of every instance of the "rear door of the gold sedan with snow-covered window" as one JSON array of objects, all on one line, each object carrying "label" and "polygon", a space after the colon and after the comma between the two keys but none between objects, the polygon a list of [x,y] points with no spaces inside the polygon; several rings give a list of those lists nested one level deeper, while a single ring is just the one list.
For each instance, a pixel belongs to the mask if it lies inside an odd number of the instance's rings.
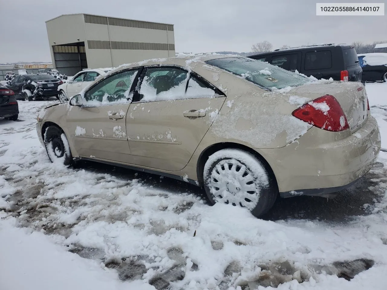
[{"label": "rear door of the gold sedan with snow-covered window", "polygon": [[179,171],[188,164],[226,97],[179,67],[148,67],[140,79],[126,119],[134,163]]}]

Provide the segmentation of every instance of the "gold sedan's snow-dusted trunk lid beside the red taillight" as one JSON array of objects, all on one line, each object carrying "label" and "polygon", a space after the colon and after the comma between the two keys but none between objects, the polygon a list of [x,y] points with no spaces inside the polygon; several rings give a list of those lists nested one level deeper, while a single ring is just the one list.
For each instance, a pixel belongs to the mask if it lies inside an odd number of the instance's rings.
[{"label": "gold sedan's snow-dusted trunk lid beside the red taillight", "polygon": [[368,117],[365,87],[357,82],[325,82],[303,85],[292,91],[299,97],[311,101],[324,95],[334,96],[347,118],[352,133],[361,128]]}]

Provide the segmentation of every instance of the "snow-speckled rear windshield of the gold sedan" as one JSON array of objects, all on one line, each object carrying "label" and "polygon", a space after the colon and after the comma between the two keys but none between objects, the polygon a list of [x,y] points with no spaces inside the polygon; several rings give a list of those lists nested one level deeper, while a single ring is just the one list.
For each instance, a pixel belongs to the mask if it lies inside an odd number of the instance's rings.
[{"label": "snow-speckled rear windshield of the gold sedan", "polygon": [[206,61],[207,64],[219,67],[239,75],[246,80],[259,85],[263,89],[283,89],[296,87],[308,82],[308,79],[289,72],[283,68],[253,60],[251,58],[229,57]]}]

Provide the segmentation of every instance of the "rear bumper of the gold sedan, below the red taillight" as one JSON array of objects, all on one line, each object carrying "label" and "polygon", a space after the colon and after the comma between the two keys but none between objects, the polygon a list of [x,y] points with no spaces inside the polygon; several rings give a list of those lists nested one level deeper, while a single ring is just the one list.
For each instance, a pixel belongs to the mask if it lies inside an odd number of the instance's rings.
[{"label": "rear bumper of the gold sedan, below the red taillight", "polygon": [[380,150],[379,128],[372,116],[347,138],[328,143],[316,142],[317,136],[329,134],[332,133],[312,127],[288,146],[257,149],[271,165],[281,196],[337,192],[371,169]]}]

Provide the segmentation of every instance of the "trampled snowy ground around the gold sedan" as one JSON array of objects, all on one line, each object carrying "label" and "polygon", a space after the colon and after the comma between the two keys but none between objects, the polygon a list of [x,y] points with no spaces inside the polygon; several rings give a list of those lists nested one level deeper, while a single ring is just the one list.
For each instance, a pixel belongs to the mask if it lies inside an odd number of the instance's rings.
[{"label": "trampled snowy ground around the gold sedan", "polygon": [[20,101],[20,121],[0,119],[0,289],[385,289],[387,83],[366,90],[377,164],[336,200],[281,200],[265,219],[168,178],[51,164],[35,131],[51,102]]}]

